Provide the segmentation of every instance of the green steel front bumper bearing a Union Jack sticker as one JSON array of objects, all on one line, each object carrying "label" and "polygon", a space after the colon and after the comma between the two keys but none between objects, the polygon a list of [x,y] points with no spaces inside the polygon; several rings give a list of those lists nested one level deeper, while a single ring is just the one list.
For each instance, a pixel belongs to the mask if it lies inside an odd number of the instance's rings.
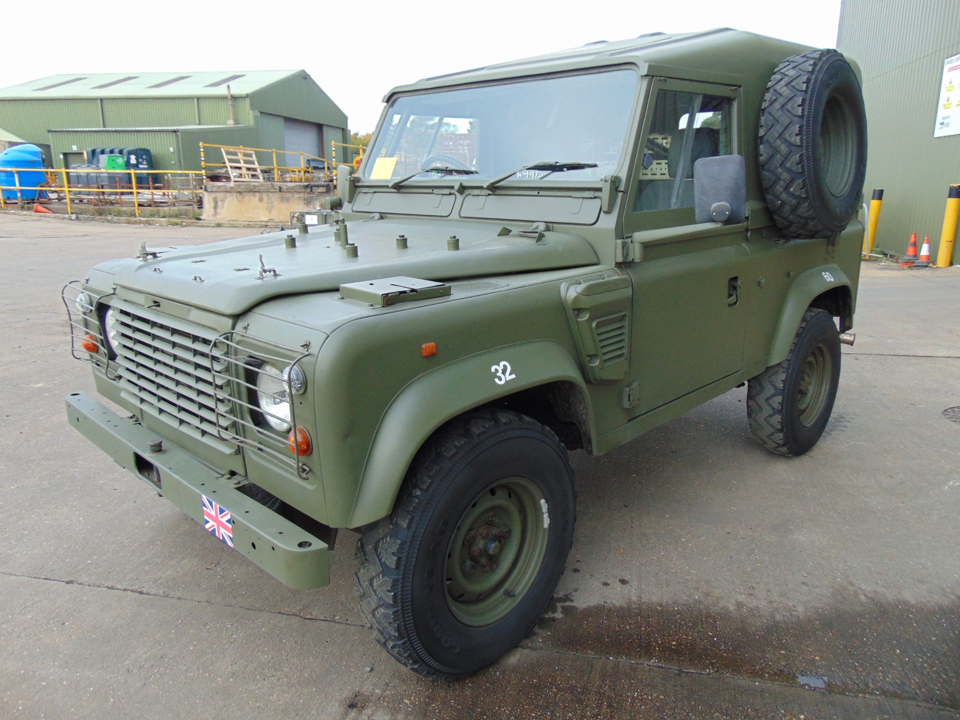
[{"label": "green steel front bumper bearing a Union Jack sticker", "polygon": [[70,425],[104,450],[122,468],[200,523],[202,495],[230,513],[233,546],[290,588],[320,588],[330,582],[329,548],[323,540],[239,492],[213,468],[175,444],[151,453],[158,438],[135,418],[121,418],[85,393],[66,398]]}]

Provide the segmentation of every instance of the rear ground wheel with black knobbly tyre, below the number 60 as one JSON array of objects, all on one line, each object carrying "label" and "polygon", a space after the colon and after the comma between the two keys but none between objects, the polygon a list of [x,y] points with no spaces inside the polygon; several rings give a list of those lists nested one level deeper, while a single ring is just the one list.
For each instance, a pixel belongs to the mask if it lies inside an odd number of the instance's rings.
[{"label": "rear ground wheel with black knobbly tyre, below the number 60", "polygon": [[[809,371],[818,363],[828,367],[821,367],[820,382],[811,389]],[[824,310],[807,310],[786,360],[747,385],[747,419],[756,442],[780,455],[803,455],[827,427],[839,381],[840,339],[833,318]]]}]

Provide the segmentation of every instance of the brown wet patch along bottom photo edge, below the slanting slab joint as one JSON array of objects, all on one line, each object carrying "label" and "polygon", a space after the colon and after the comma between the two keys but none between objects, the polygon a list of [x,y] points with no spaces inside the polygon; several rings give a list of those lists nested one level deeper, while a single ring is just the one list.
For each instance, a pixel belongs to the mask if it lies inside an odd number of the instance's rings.
[{"label": "brown wet patch along bottom photo edge, below the slanting slab joint", "polygon": [[363,713],[342,720],[799,720],[874,718],[939,720],[947,709],[910,701],[813,692],[799,684],[766,684],[683,673],[629,661],[549,650],[518,649],[457,682],[405,675],[372,695]]}]

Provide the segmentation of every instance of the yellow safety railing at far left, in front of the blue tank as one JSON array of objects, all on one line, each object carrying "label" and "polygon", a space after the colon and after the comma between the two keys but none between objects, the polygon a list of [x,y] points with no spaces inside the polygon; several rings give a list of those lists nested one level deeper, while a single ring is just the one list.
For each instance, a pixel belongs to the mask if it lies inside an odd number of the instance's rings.
[{"label": "yellow safety railing at far left, in front of the blue tank", "polygon": [[[15,204],[21,207],[24,203],[36,203],[41,193],[46,193],[46,200],[51,193],[60,194],[66,202],[67,213],[73,212],[74,203],[92,204],[124,204],[132,200],[133,213],[140,217],[140,211],[146,207],[156,207],[160,204],[174,206],[189,204],[197,207],[197,196],[204,192],[203,173],[199,170],[101,170],[101,169],[70,169],[70,168],[0,168],[0,173],[13,174],[13,184],[0,184],[0,209],[7,209]],[[38,185],[25,185],[20,181],[21,173],[43,173],[45,182]],[[70,182],[70,175],[77,176],[108,176],[112,182],[80,183]],[[147,181],[137,180],[137,176],[147,176]],[[173,187],[173,179],[188,179],[189,187]],[[156,181],[155,181],[156,179]],[[8,200],[5,195],[8,190],[16,193],[15,202]],[[36,199],[24,198],[23,194],[36,191]],[[189,203],[182,203],[184,199]]]}]

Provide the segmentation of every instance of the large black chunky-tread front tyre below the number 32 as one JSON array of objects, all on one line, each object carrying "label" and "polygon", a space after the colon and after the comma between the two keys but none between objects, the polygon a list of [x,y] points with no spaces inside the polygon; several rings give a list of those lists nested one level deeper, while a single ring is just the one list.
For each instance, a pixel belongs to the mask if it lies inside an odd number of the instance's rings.
[{"label": "large black chunky-tread front tyre below the number 32", "polygon": [[[492,501],[500,483],[510,479],[539,488],[545,505],[538,500],[540,512],[527,514],[533,516],[523,527],[530,533],[508,536],[504,547],[537,536],[541,560],[525,565],[525,592],[511,596],[511,588],[496,588],[482,601],[507,603],[505,614],[490,623],[465,622],[447,589],[450,558],[459,557],[453,553],[463,552],[467,541],[454,540],[477,503]],[[369,526],[357,543],[360,609],[377,642],[401,664],[434,678],[468,675],[516,647],[564,572],[575,501],[566,448],[539,422],[492,408],[451,420],[421,448],[391,516]],[[499,556],[503,566],[494,570],[505,570],[507,555],[505,550]]]}]

